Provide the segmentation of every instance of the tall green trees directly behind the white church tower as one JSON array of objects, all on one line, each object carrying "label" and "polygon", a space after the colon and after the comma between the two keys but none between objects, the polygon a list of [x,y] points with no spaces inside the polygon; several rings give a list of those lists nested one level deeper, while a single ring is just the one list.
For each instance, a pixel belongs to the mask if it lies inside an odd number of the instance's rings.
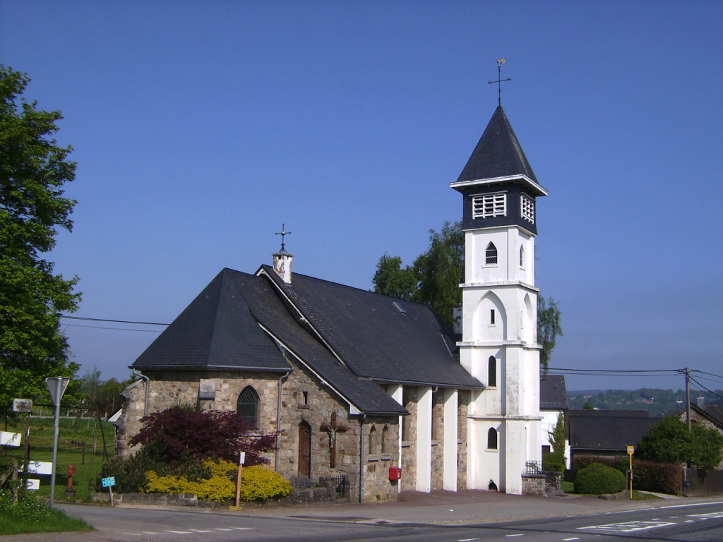
[{"label": "tall green trees directly behind the white church tower", "polygon": [[[384,254],[372,278],[374,291],[429,305],[442,320],[453,324],[454,308],[462,302],[464,232],[461,222],[445,222],[440,231],[429,230],[429,247],[402,267],[398,256]],[[557,302],[537,297],[537,342],[542,346],[540,365],[547,372],[557,335],[562,335],[562,313]]]}]

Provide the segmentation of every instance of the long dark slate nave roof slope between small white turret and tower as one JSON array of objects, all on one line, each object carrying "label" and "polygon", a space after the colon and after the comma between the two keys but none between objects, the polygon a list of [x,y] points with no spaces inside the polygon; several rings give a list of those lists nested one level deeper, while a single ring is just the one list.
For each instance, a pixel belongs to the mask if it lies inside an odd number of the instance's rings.
[{"label": "long dark slate nave roof slope between small white turret and tower", "polygon": [[262,270],[360,377],[484,389],[461,366],[452,330],[428,306],[298,273],[287,285],[271,267]]}]

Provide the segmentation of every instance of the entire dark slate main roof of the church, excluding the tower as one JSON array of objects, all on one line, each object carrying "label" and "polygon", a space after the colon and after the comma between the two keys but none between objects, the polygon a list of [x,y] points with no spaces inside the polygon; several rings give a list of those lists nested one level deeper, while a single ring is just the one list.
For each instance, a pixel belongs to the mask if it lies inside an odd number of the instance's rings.
[{"label": "entire dark slate main roof of the church, excluding the tower", "polygon": [[406,413],[375,380],[484,389],[429,307],[268,266],[222,270],[133,367],[286,372],[277,342],[364,413]]}]

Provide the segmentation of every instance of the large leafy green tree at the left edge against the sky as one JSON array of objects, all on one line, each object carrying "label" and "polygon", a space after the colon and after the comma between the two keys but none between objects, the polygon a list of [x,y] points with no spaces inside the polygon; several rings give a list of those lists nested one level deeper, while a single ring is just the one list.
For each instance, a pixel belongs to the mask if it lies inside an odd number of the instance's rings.
[{"label": "large leafy green tree at the left edge against the sky", "polygon": [[0,415],[13,397],[44,392],[45,377],[72,377],[61,312],[77,308],[77,278],[54,273],[42,254],[58,228],[72,229],[76,202],[63,197],[73,180],[72,147],[53,139],[59,111],[21,98],[30,79],[0,64]]}]

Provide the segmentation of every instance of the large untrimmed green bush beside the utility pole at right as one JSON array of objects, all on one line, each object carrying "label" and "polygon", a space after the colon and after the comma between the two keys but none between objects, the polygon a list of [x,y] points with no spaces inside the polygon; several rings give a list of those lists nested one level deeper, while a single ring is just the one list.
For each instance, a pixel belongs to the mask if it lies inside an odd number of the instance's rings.
[{"label": "large untrimmed green bush beside the utility pole at right", "polygon": [[715,429],[681,421],[674,414],[650,426],[638,442],[641,459],[659,463],[686,463],[703,470],[716,468],[722,459],[723,435]]}]

